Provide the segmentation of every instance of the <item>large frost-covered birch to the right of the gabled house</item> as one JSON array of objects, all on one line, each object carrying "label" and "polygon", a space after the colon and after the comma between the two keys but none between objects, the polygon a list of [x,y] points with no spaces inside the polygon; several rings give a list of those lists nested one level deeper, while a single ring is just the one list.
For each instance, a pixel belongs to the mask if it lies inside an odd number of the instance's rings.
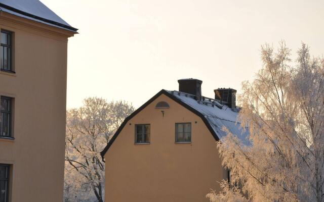
[{"label": "large frost-covered birch to the right of the gabled house", "polygon": [[218,144],[241,192],[223,183],[221,193],[207,195],[211,201],[324,201],[324,61],[304,43],[297,55],[291,61],[284,41],[276,51],[262,46],[264,67],[242,84],[239,99],[250,144],[230,132]]}]

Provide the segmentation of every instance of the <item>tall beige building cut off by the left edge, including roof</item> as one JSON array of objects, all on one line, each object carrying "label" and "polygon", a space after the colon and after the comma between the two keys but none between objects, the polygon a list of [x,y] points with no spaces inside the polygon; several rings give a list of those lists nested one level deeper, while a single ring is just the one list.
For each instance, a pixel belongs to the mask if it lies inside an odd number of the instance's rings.
[{"label": "tall beige building cut off by the left edge, including roof", "polygon": [[68,37],[38,0],[0,0],[0,202],[62,201]]}]

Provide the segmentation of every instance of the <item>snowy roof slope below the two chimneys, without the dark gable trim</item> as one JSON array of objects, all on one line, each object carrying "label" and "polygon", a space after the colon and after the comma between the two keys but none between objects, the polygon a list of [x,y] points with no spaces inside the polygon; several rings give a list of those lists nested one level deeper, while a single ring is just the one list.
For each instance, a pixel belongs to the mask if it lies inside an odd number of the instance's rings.
[{"label": "snowy roof slope below the two chimneys, without the dark gable trim", "polygon": [[225,126],[232,134],[236,135],[242,143],[246,145],[250,144],[247,139],[249,135],[248,130],[243,130],[240,123],[237,122],[238,109],[232,110],[226,105],[220,104],[218,100],[208,97],[203,97],[201,101],[197,101],[192,94],[169,90],[167,90],[167,92],[178,98],[184,104],[203,114],[219,139],[226,136],[226,132],[222,130],[223,126]]}]

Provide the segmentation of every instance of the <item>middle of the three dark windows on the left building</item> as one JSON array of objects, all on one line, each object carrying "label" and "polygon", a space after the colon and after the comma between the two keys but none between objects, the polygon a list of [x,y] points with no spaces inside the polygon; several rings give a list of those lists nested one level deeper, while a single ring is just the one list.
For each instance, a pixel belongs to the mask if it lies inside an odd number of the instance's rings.
[{"label": "middle of the three dark windows on the left building", "polygon": [[0,97],[0,137],[11,137],[12,98]]}]

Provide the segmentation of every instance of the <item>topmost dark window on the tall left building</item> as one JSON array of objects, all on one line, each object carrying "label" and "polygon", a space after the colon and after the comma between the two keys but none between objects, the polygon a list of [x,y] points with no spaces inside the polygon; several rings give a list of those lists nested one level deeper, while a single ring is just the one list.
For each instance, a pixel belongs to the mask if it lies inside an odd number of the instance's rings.
[{"label": "topmost dark window on the tall left building", "polygon": [[12,32],[1,30],[0,69],[12,70]]}]

